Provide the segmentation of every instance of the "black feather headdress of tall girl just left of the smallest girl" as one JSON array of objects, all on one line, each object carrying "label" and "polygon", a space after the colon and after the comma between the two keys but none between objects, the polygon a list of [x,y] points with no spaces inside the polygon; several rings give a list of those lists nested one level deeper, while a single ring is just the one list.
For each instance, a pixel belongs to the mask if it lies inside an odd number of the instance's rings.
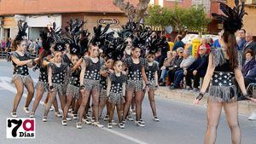
[{"label": "black feather headdress of tall girl just left of the smallest girl", "polygon": [[98,46],[100,49],[103,49],[102,47],[104,46],[105,39],[108,37],[108,28],[110,25],[107,25],[103,30],[102,30],[102,25],[99,25],[97,27],[93,28],[94,31],[94,36],[90,40],[90,43],[93,45]]}]

